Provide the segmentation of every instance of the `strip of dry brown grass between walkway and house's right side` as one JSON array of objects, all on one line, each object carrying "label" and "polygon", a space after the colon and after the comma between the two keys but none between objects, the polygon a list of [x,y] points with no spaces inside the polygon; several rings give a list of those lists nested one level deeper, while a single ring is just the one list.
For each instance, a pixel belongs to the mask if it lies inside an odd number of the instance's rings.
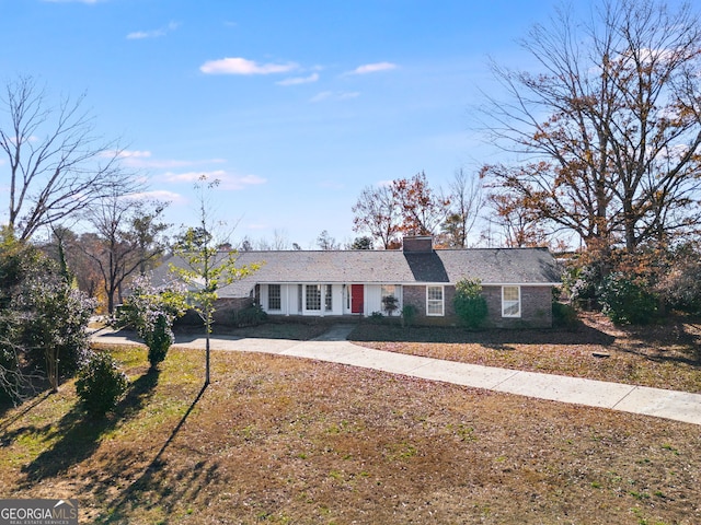
[{"label": "strip of dry brown grass between walkway and house's right side", "polygon": [[364,324],[350,339],[414,355],[701,393],[701,323],[621,328],[600,314],[581,318],[573,329],[474,332]]}]

